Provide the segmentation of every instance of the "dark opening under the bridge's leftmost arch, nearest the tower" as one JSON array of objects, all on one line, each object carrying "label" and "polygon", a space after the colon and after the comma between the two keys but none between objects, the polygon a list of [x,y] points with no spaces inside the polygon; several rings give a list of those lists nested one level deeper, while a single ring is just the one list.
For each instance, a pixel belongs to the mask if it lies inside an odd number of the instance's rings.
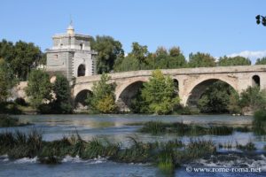
[{"label": "dark opening under the bridge's leftmost arch, nearest the tower", "polygon": [[87,109],[86,99],[92,96],[92,92],[89,89],[83,89],[74,98],[74,108],[75,109]]}]

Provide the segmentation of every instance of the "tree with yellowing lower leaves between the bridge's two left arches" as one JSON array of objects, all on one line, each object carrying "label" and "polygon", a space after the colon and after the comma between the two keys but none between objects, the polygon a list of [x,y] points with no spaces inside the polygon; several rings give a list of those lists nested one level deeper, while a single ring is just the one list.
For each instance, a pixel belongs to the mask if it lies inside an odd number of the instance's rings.
[{"label": "tree with yellowing lower leaves between the bridge's two left arches", "polygon": [[114,89],[115,84],[107,83],[111,77],[106,73],[101,75],[101,80],[95,82],[92,87],[92,96],[87,96],[86,103],[89,107],[102,113],[116,112]]}]

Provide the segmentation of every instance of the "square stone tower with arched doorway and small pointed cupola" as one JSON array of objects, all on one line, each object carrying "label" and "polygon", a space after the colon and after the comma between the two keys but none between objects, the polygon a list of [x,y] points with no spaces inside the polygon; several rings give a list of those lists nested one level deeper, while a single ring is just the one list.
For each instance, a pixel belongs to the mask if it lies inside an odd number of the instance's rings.
[{"label": "square stone tower with arched doorway and small pointed cupola", "polygon": [[90,35],[74,33],[72,22],[66,34],[54,35],[53,46],[46,50],[46,71],[63,73],[68,81],[74,77],[96,74],[97,52],[90,50]]}]

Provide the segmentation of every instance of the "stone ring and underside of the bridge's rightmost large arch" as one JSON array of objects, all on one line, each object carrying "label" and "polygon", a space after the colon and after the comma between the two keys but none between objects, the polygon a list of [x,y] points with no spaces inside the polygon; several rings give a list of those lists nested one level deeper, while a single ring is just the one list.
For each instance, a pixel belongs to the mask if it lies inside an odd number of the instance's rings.
[{"label": "stone ring and underside of the bridge's rightmost large arch", "polygon": [[231,88],[235,89],[239,93],[238,82],[236,78],[214,77],[214,76],[201,76],[191,83],[184,84],[184,97],[181,97],[184,105],[195,106],[200,96],[204,93],[208,86],[215,81],[223,81],[227,83]]}]

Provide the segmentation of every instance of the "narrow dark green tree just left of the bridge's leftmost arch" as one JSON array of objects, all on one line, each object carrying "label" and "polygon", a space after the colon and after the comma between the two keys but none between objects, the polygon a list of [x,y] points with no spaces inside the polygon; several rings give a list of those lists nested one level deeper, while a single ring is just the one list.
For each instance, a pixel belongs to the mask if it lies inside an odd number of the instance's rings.
[{"label": "narrow dark green tree just left of the bridge's leftmost arch", "polygon": [[56,97],[52,103],[53,112],[71,113],[73,109],[71,104],[71,89],[64,75],[56,75],[56,81],[53,84],[53,93]]}]

